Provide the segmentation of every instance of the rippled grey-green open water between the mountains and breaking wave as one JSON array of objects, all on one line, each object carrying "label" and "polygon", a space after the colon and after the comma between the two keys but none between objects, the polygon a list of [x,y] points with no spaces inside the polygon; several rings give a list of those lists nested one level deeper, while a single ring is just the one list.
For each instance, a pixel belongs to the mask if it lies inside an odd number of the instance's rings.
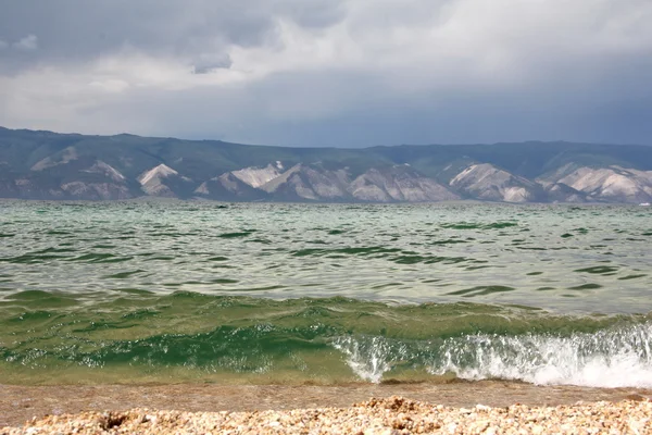
[{"label": "rippled grey-green open water between the mountains and breaking wave", "polygon": [[[214,203],[166,202],[88,203],[74,208],[75,215],[68,214],[73,208],[52,204],[47,214],[35,215],[41,208],[36,202],[3,207],[1,234],[12,236],[0,239],[5,240],[0,269],[11,272],[4,278],[10,282],[1,284],[8,288],[2,297],[29,288],[113,294],[117,284],[166,294],[172,288],[163,283],[168,283],[206,293],[285,286],[260,294],[275,298],[347,295],[422,302],[473,296],[570,312],[650,308],[649,249],[626,237],[648,240],[652,228],[649,215],[627,208],[423,204],[350,211],[236,204],[218,210]],[[623,228],[626,235],[617,232]],[[573,237],[561,238],[564,234]],[[613,263],[599,262],[609,258]],[[387,283],[404,284],[384,287]],[[476,288],[488,284],[518,291]],[[468,293],[450,295],[460,290]],[[577,300],[562,300],[562,294]]]}]

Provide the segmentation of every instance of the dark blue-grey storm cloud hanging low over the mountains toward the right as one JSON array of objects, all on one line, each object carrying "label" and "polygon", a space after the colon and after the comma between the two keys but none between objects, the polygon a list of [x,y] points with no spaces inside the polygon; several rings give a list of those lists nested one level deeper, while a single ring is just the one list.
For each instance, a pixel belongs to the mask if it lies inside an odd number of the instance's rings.
[{"label": "dark blue-grey storm cloud hanging low over the mountains toward the right", "polygon": [[[582,76],[587,83],[579,85]],[[652,145],[652,88],[641,88],[635,74],[614,71],[589,79],[568,71],[565,78],[528,90],[455,88],[397,95],[387,92],[378,75],[277,75],[246,91],[215,91],[203,98],[187,92],[174,100],[162,96],[152,122],[165,136],[283,146],[523,140]],[[175,123],[193,107],[199,110],[185,125]]]}]

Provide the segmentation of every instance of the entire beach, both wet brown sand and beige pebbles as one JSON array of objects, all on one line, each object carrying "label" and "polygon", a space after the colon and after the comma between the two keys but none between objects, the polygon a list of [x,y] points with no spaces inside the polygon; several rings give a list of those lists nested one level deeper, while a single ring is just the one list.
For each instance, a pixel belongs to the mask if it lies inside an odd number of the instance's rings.
[{"label": "entire beach, both wet brown sand and beige pebbles", "polygon": [[[379,399],[369,401],[371,397]],[[489,381],[338,386],[0,385],[0,427],[13,426],[0,434],[70,433],[74,427],[93,434],[229,428],[230,433],[511,433],[507,428],[517,427],[522,433],[551,433],[555,427],[556,432],[582,433],[577,428],[593,427],[598,432],[584,433],[652,434],[651,397],[652,390],[637,388]],[[29,426],[23,426],[26,421]],[[480,432],[480,426],[486,431]]]}]

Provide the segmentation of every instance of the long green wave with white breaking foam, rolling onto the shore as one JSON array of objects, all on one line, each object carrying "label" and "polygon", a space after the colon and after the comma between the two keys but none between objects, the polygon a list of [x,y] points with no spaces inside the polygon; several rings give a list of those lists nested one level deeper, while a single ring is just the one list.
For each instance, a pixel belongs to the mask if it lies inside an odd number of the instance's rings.
[{"label": "long green wave with white breaking foam, rolling onto the shore", "polygon": [[136,382],[183,369],[198,378],[265,382],[456,377],[652,387],[652,316],[127,287],[93,302],[26,290],[0,300],[0,382],[22,368],[36,377],[68,370],[100,380],[126,370]]}]

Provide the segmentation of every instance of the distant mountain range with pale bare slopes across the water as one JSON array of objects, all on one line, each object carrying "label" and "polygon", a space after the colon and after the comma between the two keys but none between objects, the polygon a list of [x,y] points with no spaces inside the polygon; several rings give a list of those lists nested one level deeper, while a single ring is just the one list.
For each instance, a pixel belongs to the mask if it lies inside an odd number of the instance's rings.
[{"label": "distant mountain range with pale bare slopes across the water", "polygon": [[652,147],[287,148],[0,127],[0,198],[652,202]]}]

